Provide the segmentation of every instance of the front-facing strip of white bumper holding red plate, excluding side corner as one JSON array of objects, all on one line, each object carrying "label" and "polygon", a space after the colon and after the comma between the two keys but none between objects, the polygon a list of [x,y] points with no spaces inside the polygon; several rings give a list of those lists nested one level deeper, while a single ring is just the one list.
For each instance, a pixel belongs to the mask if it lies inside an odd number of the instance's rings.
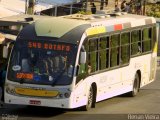
[{"label": "front-facing strip of white bumper holding red plate, excluding side corner", "polygon": [[74,108],[71,105],[71,98],[55,99],[55,98],[35,98],[27,96],[15,96],[5,93],[5,103],[18,105],[46,106],[56,108]]}]

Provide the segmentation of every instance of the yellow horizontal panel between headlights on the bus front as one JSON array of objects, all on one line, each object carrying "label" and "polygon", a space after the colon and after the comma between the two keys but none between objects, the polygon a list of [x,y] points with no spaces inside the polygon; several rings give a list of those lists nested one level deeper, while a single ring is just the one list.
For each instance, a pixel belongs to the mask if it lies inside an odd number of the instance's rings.
[{"label": "yellow horizontal panel between headlights on the bus front", "polygon": [[58,91],[35,90],[31,88],[16,88],[15,92],[20,95],[37,96],[37,97],[56,97]]}]

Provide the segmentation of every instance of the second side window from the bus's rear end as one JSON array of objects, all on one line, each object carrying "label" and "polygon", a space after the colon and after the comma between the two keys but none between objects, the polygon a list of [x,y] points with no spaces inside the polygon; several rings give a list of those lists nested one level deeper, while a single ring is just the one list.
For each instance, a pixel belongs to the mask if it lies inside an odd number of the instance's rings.
[{"label": "second side window from the bus's rear end", "polygon": [[141,52],[141,30],[134,30],[131,32],[131,55],[136,55]]}]

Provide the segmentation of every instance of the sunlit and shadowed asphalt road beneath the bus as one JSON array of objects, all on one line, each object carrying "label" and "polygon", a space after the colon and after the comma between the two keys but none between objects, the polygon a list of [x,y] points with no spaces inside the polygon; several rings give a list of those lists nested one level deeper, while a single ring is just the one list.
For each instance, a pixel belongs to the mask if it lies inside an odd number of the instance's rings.
[{"label": "sunlit and shadowed asphalt road beneath the bus", "polygon": [[0,109],[4,120],[160,120],[160,69],[156,80],[141,88],[136,97],[117,96],[96,103],[90,111],[80,109],[6,105]]}]

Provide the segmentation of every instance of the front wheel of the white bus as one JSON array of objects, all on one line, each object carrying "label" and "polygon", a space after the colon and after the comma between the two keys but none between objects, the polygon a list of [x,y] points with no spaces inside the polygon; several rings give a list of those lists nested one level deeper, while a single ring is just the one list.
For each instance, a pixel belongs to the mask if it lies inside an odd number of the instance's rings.
[{"label": "front wheel of the white bus", "polygon": [[88,100],[87,100],[87,104],[85,106],[82,107],[82,109],[84,111],[88,111],[90,110],[91,108],[94,108],[95,107],[95,97],[94,97],[94,89],[93,87],[91,86],[90,89],[89,89],[89,94],[88,94]]}]

